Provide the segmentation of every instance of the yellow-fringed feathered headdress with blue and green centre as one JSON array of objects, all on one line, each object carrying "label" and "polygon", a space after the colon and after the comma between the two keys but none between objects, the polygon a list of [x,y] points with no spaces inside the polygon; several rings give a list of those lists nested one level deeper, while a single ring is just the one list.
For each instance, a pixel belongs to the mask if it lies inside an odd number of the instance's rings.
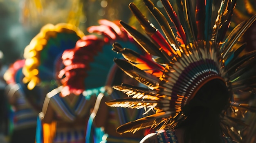
[{"label": "yellow-fringed feathered headdress with blue and green centre", "polygon": [[24,50],[26,59],[22,69],[23,82],[33,89],[40,81],[52,81],[63,68],[62,53],[74,48],[76,42],[84,36],[72,24],[47,24],[34,37]]}]

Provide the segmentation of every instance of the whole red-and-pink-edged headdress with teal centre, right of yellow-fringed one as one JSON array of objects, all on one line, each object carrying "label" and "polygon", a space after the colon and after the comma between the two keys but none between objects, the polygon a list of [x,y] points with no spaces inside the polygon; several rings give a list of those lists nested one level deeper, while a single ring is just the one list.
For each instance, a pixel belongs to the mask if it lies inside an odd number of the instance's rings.
[{"label": "whole red-and-pink-edged headdress with teal centre, right of yellow-fringed one", "polygon": [[[117,23],[117,22],[116,22]],[[113,58],[117,55],[111,50],[115,40],[124,45],[135,47],[132,37],[116,24],[109,20],[99,20],[99,26],[90,26],[88,31],[94,35],[86,35],[76,42],[73,49],[64,51],[62,55],[64,68],[58,77],[62,78],[62,96],[71,92],[79,95],[84,90],[93,90],[105,86],[108,71],[114,64]],[[97,90],[98,92],[98,90]]]}]

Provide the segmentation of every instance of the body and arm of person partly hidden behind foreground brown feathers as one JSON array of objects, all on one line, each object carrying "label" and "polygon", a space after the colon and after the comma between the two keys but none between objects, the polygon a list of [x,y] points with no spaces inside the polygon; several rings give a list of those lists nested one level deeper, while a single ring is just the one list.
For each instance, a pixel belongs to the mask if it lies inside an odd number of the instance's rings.
[{"label": "body and arm of person partly hidden behind foreground brown feathers", "polygon": [[145,110],[110,108],[105,104],[106,101],[125,97],[124,93],[112,90],[111,87],[113,85],[124,83],[137,86],[138,83],[133,79],[127,78],[128,76],[116,66],[110,70],[110,73],[110,85],[106,85],[105,94],[101,93],[98,95],[94,111],[92,112],[95,116],[95,126],[104,128],[105,134],[101,143],[138,143],[144,137],[145,130],[140,130],[136,134],[126,133],[121,135],[115,130],[119,125],[144,117],[143,113],[145,113]]}]

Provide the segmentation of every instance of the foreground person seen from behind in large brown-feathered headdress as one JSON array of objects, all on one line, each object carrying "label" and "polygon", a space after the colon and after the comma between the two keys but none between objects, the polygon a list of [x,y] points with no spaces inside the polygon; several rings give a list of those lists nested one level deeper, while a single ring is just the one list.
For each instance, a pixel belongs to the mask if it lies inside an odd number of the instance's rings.
[{"label": "foreground person seen from behind in large brown-feathered headdress", "polygon": [[[126,60],[115,59],[117,65],[148,88],[114,86],[134,99],[118,99],[107,104],[154,109],[156,114],[121,125],[117,132],[135,133],[148,127],[157,130],[145,136],[141,143],[242,142],[240,132],[244,124],[231,117],[230,112],[255,111],[255,107],[234,102],[234,92],[251,92],[255,87],[256,52],[243,53],[245,43],[239,40],[256,15],[225,35],[236,0],[222,0],[220,6],[214,5],[219,8],[217,18],[211,17],[215,15],[212,0],[176,1],[179,17],[173,4],[161,1],[177,34],[150,0],[144,3],[159,22],[167,40],[133,3],[129,7],[147,37],[120,22],[154,60],[145,60],[114,44],[115,51],[126,57]],[[148,67],[138,68],[138,63]]]}]

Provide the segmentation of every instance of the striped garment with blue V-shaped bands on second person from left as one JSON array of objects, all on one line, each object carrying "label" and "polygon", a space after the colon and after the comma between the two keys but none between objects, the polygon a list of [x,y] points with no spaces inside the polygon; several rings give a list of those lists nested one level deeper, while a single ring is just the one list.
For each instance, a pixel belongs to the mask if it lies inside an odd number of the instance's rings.
[{"label": "striped garment with blue V-shaped bands on second person from left", "polygon": [[[49,98],[49,97],[46,97]],[[72,122],[78,117],[85,117],[90,113],[88,103],[83,94],[75,96],[72,101],[66,97],[60,97],[59,93],[50,97],[49,104],[57,113],[57,118],[63,121]],[[58,124],[58,123],[57,123]],[[83,143],[85,140],[85,127],[56,128],[54,143]]]}]

